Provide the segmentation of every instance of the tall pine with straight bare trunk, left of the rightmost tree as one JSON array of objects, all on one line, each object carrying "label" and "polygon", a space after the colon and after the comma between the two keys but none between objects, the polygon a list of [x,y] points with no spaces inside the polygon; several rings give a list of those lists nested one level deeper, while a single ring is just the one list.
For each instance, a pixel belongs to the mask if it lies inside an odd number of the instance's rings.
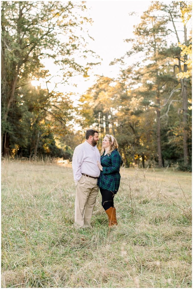
[{"label": "tall pine with straight bare trunk, left of the rightmost tree", "polygon": [[[161,148],[161,107],[166,98],[166,84],[174,88],[178,83],[175,82],[167,73],[167,67],[170,65],[161,55],[160,50],[166,47],[167,29],[163,19],[158,19],[150,13],[151,7],[141,16],[141,23],[135,27],[134,39],[128,39],[132,42],[132,49],[128,55],[138,52],[145,53],[145,66],[136,71],[137,81],[142,84],[140,96],[154,107],[157,125],[157,152],[159,167],[162,166],[162,148]],[[170,91],[167,89],[168,97]],[[173,93],[172,93],[173,94]]]}]

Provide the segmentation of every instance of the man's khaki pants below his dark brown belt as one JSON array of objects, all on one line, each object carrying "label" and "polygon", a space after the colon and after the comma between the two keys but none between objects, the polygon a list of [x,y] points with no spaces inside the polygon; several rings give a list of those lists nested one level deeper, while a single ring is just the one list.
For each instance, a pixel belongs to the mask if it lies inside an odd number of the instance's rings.
[{"label": "man's khaki pants below his dark brown belt", "polygon": [[75,225],[88,228],[91,225],[91,216],[98,195],[97,178],[82,175],[76,185],[75,198]]}]

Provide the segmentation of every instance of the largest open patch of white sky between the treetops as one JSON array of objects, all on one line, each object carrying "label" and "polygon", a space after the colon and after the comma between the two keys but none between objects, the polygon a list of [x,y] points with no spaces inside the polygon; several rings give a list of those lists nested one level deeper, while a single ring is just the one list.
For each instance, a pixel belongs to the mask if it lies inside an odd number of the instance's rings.
[{"label": "largest open patch of white sky between the treetops", "polygon": [[[116,77],[118,66],[109,66],[114,58],[120,58],[129,48],[124,39],[133,37],[133,25],[140,22],[149,1],[89,1],[87,7],[93,24],[89,28],[95,41],[90,42],[93,49],[103,59],[100,66],[93,69],[95,74]],[[138,16],[129,16],[135,11]]]}]

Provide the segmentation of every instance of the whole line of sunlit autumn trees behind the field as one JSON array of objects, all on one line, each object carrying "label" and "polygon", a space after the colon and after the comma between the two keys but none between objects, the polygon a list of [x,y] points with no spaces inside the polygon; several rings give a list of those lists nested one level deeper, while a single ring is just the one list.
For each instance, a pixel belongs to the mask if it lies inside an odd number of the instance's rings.
[{"label": "whole line of sunlit autumn trees behind the field", "polygon": [[[125,166],[178,162],[190,169],[191,2],[151,3],[134,27],[134,38],[125,40],[129,51],[110,63],[120,66],[119,77],[98,75],[73,107],[70,94],[57,91],[57,85],[50,91],[33,87],[31,80],[50,81],[43,58],[60,66],[63,83],[74,74],[87,77],[89,67],[98,64],[83,66],[74,58],[75,52],[83,58],[93,53],[77,34],[84,21],[91,22],[82,16],[85,4],[78,3],[2,2],[3,155],[72,158],[84,131],[95,127],[101,140],[109,133],[117,138]],[[134,55],[142,60],[127,66]],[[82,129],[74,131],[72,122]]]}]

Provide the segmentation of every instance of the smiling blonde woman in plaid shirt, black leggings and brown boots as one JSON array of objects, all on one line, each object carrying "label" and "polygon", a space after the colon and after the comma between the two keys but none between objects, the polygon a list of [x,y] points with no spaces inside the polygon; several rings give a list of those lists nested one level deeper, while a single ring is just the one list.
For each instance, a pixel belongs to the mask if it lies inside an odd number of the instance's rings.
[{"label": "smiling blonde woman in plaid shirt, black leggings and brown boots", "polygon": [[108,215],[108,226],[117,225],[116,209],[113,198],[118,192],[121,176],[119,169],[121,165],[121,155],[117,151],[117,140],[109,134],[106,134],[102,141],[101,164],[98,167],[101,170],[98,178],[98,186],[102,195],[102,206]]}]

